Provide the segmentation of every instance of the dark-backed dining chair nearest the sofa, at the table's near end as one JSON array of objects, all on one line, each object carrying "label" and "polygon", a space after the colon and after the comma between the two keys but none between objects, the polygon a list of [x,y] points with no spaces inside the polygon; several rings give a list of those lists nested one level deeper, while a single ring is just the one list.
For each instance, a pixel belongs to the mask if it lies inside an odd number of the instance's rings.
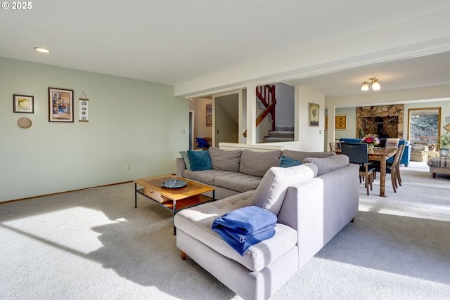
[{"label": "dark-backed dining chair nearest the sofa, at the table's near end", "polygon": [[375,168],[368,162],[368,148],[366,143],[342,143],[340,147],[342,154],[349,157],[349,162],[352,164],[359,164],[360,182],[361,176],[364,176],[364,178],[366,178],[364,184],[367,195],[369,195],[368,189],[370,187],[372,190],[373,172],[375,171]]}]

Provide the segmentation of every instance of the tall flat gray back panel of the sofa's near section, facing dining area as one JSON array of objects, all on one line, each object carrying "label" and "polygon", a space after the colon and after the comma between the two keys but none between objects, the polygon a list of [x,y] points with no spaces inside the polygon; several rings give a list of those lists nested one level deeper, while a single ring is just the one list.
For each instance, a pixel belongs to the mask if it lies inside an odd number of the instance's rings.
[{"label": "tall flat gray back panel of the sofa's near section, facing dining area", "polygon": [[299,268],[358,214],[358,174],[349,164],[288,188],[278,223],[297,230]]}]

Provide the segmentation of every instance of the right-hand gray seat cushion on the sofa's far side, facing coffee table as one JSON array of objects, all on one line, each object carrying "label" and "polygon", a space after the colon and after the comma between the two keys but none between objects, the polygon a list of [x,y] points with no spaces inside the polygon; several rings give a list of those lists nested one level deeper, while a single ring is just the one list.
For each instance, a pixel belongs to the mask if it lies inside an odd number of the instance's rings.
[{"label": "right-hand gray seat cushion on the sofa's far side, facing coffee table", "polygon": [[248,190],[255,190],[261,182],[261,177],[251,176],[243,173],[233,172],[228,174],[217,174],[212,184],[228,190],[236,190],[243,193]]}]

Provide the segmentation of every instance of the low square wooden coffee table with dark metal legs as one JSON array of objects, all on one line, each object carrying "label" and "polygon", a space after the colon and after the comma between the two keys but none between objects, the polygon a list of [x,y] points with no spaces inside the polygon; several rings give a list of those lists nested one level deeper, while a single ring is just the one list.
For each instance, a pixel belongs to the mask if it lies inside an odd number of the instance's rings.
[{"label": "low square wooden coffee table with dark metal legs", "polygon": [[[183,188],[162,188],[161,183],[169,179],[179,179],[188,184]],[[140,185],[142,188],[138,188]],[[212,198],[202,195],[212,191]],[[215,188],[185,178],[174,175],[165,175],[152,178],[139,179],[134,181],[134,207],[138,207],[138,194],[149,200],[160,204],[162,207],[170,209],[174,216],[181,209],[195,207],[196,205],[215,200]],[[174,235],[176,228],[174,226]]]}]

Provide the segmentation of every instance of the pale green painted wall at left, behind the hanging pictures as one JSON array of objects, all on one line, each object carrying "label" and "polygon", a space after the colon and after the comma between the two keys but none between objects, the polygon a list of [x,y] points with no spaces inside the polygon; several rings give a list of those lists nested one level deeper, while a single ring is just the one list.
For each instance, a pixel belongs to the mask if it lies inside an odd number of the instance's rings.
[{"label": "pale green painted wall at left, behind the hanging pictures", "polygon": [[[73,123],[49,122],[49,87],[74,91]],[[13,94],[34,96],[34,114],[14,113]],[[173,174],[187,148],[188,101],[173,86],[0,58],[0,202]]]}]

